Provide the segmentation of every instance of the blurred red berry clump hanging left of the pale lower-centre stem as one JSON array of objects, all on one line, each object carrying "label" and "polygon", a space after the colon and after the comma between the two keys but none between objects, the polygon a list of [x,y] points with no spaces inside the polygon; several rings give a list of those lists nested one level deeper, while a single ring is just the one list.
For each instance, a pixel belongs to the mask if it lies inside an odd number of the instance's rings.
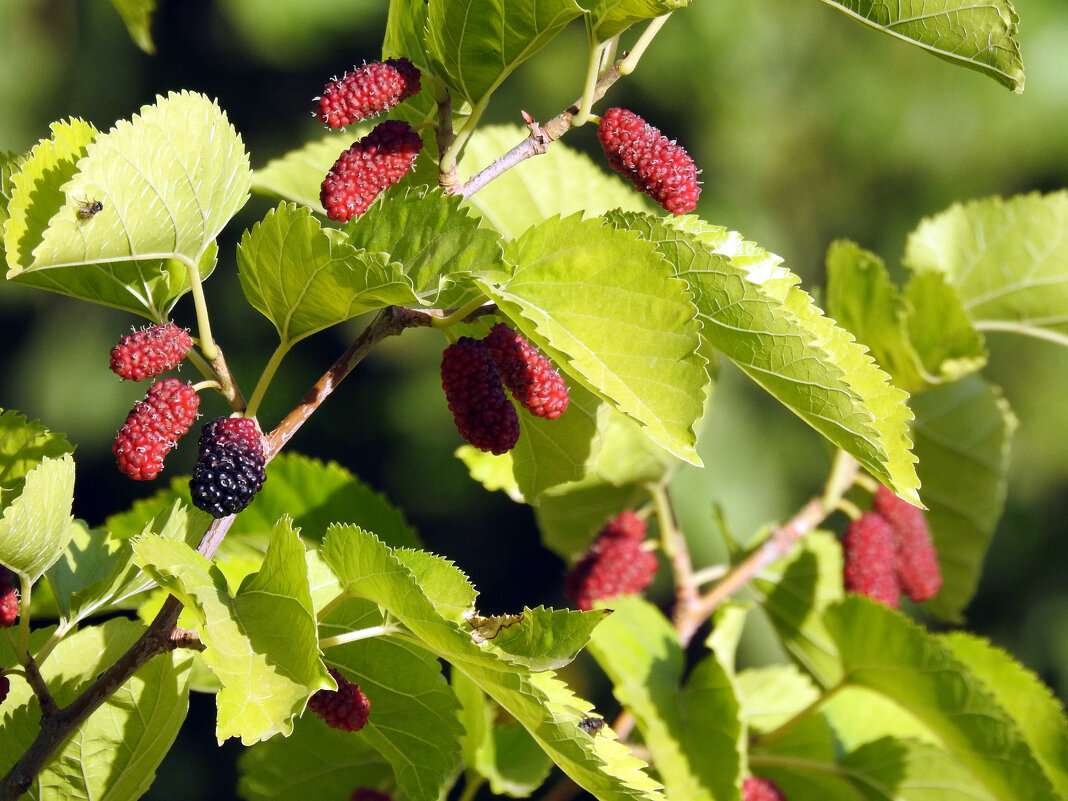
[{"label": "blurred red berry clump hanging left of the pale lower-centre stem", "polygon": [[633,512],[616,515],[564,577],[564,595],[586,611],[598,600],[645,592],[658,563],[642,547],[644,538],[644,520]]}]

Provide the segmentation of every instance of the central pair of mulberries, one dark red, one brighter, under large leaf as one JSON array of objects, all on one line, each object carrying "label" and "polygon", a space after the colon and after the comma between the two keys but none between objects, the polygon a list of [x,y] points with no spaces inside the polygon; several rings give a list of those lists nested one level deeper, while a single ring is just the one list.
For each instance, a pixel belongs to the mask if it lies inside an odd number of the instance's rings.
[{"label": "central pair of mulberries, one dark red, one brighter, under large leaf", "polygon": [[567,410],[567,384],[536,347],[505,323],[483,340],[461,336],[441,355],[441,386],[460,436],[480,451],[502,454],[519,440],[519,415],[555,420]]}]

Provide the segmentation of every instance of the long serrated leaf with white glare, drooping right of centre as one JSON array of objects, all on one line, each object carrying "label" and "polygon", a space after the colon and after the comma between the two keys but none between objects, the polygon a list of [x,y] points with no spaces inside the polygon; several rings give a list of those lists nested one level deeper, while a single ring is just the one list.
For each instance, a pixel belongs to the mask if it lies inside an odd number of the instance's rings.
[{"label": "long serrated leaf with white glare, drooping right of centre", "polygon": [[655,242],[675,266],[717,349],[898,494],[920,502],[908,396],[823,316],[778,256],[696,217],[609,219]]}]

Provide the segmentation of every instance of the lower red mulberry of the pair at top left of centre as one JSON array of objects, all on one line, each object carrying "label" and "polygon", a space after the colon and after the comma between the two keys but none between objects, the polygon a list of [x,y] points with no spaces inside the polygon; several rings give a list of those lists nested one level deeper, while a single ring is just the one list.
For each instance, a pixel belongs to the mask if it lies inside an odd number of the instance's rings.
[{"label": "lower red mulberry of the pair at top left of centre", "polygon": [[334,161],[319,200],[327,217],[347,222],[359,217],[375,198],[405,176],[423,148],[423,140],[408,123],[387,120],[352,143]]}]

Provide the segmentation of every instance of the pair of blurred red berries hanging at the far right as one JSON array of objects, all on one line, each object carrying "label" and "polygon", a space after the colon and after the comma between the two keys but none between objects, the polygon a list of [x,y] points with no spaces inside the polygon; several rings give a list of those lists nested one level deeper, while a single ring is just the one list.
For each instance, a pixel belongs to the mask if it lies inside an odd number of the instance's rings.
[{"label": "pair of blurred red berries hanging at the far right", "polygon": [[942,572],[924,514],[886,487],[874,508],[852,521],[842,541],[847,592],[897,609],[904,593],[920,602],[938,595]]}]

